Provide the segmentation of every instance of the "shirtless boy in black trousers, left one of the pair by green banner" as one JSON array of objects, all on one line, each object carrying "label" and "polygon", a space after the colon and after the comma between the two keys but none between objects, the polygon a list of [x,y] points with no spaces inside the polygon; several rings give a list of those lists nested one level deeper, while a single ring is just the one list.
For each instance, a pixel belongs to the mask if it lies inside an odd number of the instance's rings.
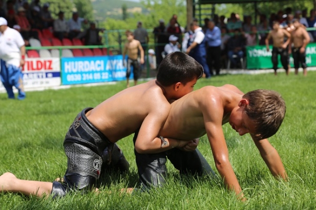
[{"label": "shirtless boy in black trousers, left one of the pair by green banner", "polygon": [[[284,42],[284,38],[287,37],[287,40]],[[267,46],[267,51],[269,51],[269,40],[273,40],[273,49],[272,49],[272,63],[274,69],[274,75],[276,75],[278,60],[277,55],[280,54],[281,63],[285,69],[286,75],[289,75],[289,54],[288,54],[288,45],[290,42],[291,34],[286,30],[280,28],[280,23],[277,21],[273,22],[273,30],[268,34],[265,42]]]}]

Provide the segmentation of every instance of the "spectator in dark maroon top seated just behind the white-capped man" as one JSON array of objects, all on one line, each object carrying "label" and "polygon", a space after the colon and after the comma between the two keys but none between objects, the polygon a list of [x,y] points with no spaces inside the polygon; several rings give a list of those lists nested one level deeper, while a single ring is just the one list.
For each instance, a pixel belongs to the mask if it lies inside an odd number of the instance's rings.
[{"label": "spectator in dark maroon top seated just behind the white-capped man", "polygon": [[16,16],[17,23],[21,27],[21,36],[25,40],[29,40],[31,37],[33,38],[39,38],[37,32],[31,31],[31,24],[25,17],[25,9],[23,7],[20,7],[18,9],[18,15]]}]

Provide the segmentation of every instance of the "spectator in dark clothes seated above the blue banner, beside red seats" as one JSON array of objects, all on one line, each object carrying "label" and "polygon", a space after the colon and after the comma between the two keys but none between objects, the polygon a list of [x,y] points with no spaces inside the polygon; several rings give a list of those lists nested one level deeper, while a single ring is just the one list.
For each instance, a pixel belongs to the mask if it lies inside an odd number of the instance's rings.
[{"label": "spectator in dark clothes seated above the blue banner, beside red seats", "polygon": [[95,23],[91,22],[90,27],[77,38],[84,38],[84,45],[102,45],[100,32],[104,32],[104,29],[96,28]]}]

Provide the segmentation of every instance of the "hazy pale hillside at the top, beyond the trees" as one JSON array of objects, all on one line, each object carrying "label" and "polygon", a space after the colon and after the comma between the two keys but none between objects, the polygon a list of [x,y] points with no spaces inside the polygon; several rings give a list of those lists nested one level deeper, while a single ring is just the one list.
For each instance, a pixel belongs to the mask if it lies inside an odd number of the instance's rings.
[{"label": "hazy pale hillside at the top, beyond the trees", "polygon": [[91,0],[94,17],[98,21],[106,18],[122,19],[122,5],[126,4],[127,13],[132,16],[133,13],[147,12],[139,2],[128,0]]}]

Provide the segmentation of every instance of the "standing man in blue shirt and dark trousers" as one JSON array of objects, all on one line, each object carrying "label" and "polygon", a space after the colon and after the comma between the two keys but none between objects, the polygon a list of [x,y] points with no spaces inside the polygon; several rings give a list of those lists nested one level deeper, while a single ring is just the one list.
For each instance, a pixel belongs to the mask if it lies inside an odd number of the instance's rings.
[{"label": "standing man in blue shirt and dark trousers", "polygon": [[207,58],[210,73],[212,74],[214,67],[216,75],[219,75],[221,67],[221,30],[215,26],[215,22],[212,19],[208,22],[205,40],[207,41]]}]

